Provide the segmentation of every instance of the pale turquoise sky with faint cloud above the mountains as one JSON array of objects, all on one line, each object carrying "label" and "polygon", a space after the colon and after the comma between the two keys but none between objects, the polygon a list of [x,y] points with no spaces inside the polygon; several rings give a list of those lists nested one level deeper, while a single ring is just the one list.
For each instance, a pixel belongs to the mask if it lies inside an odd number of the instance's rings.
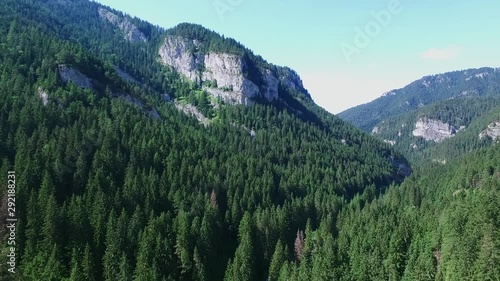
[{"label": "pale turquoise sky with faint cloud above the mountains", "polygon": [[500,67],[498,0],[97,0],[164,28],[201,24],[301,76],[339,113],[423,76]]}]

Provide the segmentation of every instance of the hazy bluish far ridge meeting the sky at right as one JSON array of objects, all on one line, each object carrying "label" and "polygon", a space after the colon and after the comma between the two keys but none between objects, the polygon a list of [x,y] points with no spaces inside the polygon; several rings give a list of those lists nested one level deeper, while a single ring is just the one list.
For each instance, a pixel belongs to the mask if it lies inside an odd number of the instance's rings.
[{"label": "hazy bluish far ridge meeting the sky at right", "polygon": [[479,68],[423,77],[408,86],[338,114],[371,132],[381,121],[434,103],[468,97],[499,97],[500,68]]}]

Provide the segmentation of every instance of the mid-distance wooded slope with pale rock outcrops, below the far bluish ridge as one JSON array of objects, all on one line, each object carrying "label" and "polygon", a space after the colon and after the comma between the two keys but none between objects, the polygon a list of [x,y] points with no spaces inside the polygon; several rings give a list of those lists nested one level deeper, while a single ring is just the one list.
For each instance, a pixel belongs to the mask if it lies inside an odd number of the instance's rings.
[{"label": "mid-distance wooded slope with pale rock outcrops, below the far bluish ridge", "polygon": [[500,141],[500,98],[437,102],[385,119],[372,134],[415,162],[450,159]]}]

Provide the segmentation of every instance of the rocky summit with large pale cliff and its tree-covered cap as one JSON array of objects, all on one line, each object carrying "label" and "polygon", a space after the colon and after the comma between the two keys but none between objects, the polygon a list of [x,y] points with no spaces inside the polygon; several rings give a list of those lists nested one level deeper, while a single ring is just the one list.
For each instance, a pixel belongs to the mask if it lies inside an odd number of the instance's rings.
[{"label": "rocky summit with large pale cliff and its tree-covered cap", "polygon": [[232,39],[186,23],[166,34],[159,50],[162,63],[227,103],[274,101],[280,98],[280,86],[310,99],[295,71],[269,64]]}]

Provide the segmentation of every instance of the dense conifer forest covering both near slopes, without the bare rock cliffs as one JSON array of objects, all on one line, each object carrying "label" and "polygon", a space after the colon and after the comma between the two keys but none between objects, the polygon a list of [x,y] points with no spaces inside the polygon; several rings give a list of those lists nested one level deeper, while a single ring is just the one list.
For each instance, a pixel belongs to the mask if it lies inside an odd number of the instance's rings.
[{"label": "dense conifer forest covering both near slopes, without the bare rock cliffs", "polygon": [[197,38],[261,81],[275,66],[236,40],[129,18],[130,42],[99,7],[0,2],[1,280],[500,280],[498,144],[410,175],[303,92],[226,104],[158,60],[166,35]]}]

